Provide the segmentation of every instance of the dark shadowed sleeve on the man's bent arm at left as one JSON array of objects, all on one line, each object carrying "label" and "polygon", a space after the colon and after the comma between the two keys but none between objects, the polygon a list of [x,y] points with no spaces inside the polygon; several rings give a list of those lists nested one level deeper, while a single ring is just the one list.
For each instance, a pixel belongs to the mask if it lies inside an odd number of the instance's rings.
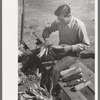
[{"label": "dark shadowed sleeve on the man's bent arm at left", "polygon": [[45,27],[45,29],[43,30],[43,33],[42,33],[42,37],[45,39],[45,38],[48,38],[49,35],[52,33],[52,32],[55,32],[58,30],[58,22],[57,20],[55,20],[51,26],[49,27]]}]

